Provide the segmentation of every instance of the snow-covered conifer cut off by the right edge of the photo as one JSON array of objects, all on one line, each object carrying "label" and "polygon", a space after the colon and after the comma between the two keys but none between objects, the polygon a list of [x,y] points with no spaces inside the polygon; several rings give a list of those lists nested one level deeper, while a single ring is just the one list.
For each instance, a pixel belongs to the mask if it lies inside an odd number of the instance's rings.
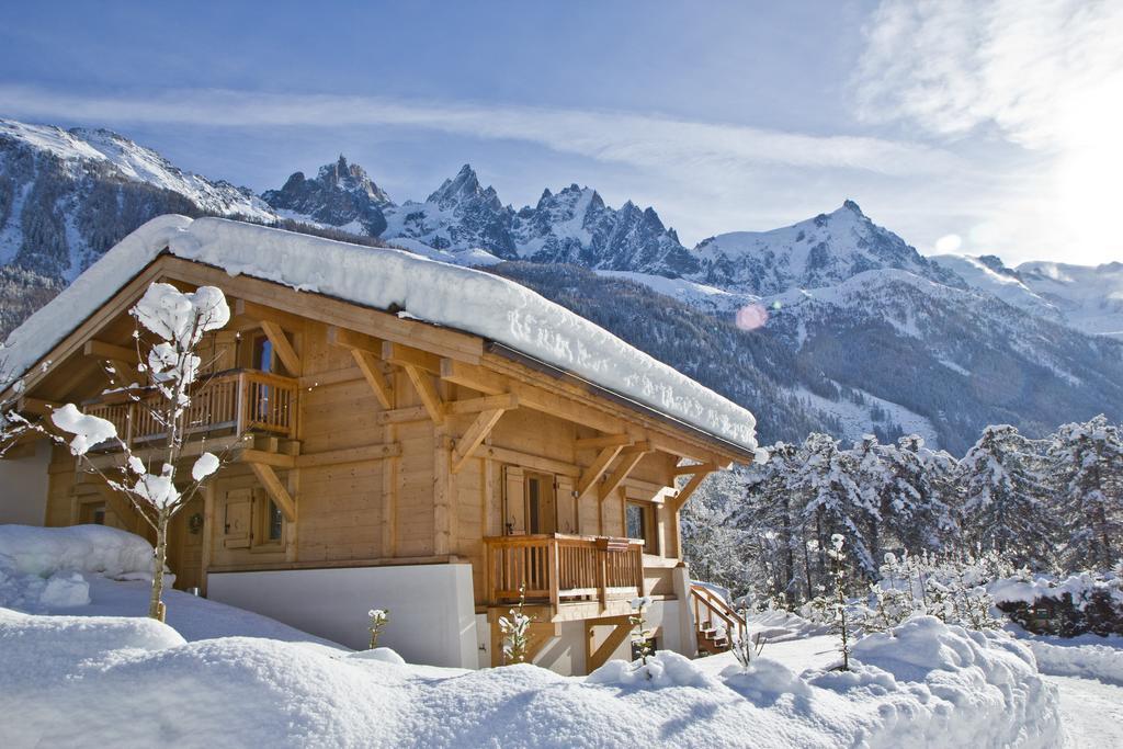
[{"label": "snow-covered conifer cut off by the right edge of the photo", "polygon": [[1110,569],[1123,555],[1123,437],[1101,414],[1061,427],[1050,448],[1069,569]]}]

